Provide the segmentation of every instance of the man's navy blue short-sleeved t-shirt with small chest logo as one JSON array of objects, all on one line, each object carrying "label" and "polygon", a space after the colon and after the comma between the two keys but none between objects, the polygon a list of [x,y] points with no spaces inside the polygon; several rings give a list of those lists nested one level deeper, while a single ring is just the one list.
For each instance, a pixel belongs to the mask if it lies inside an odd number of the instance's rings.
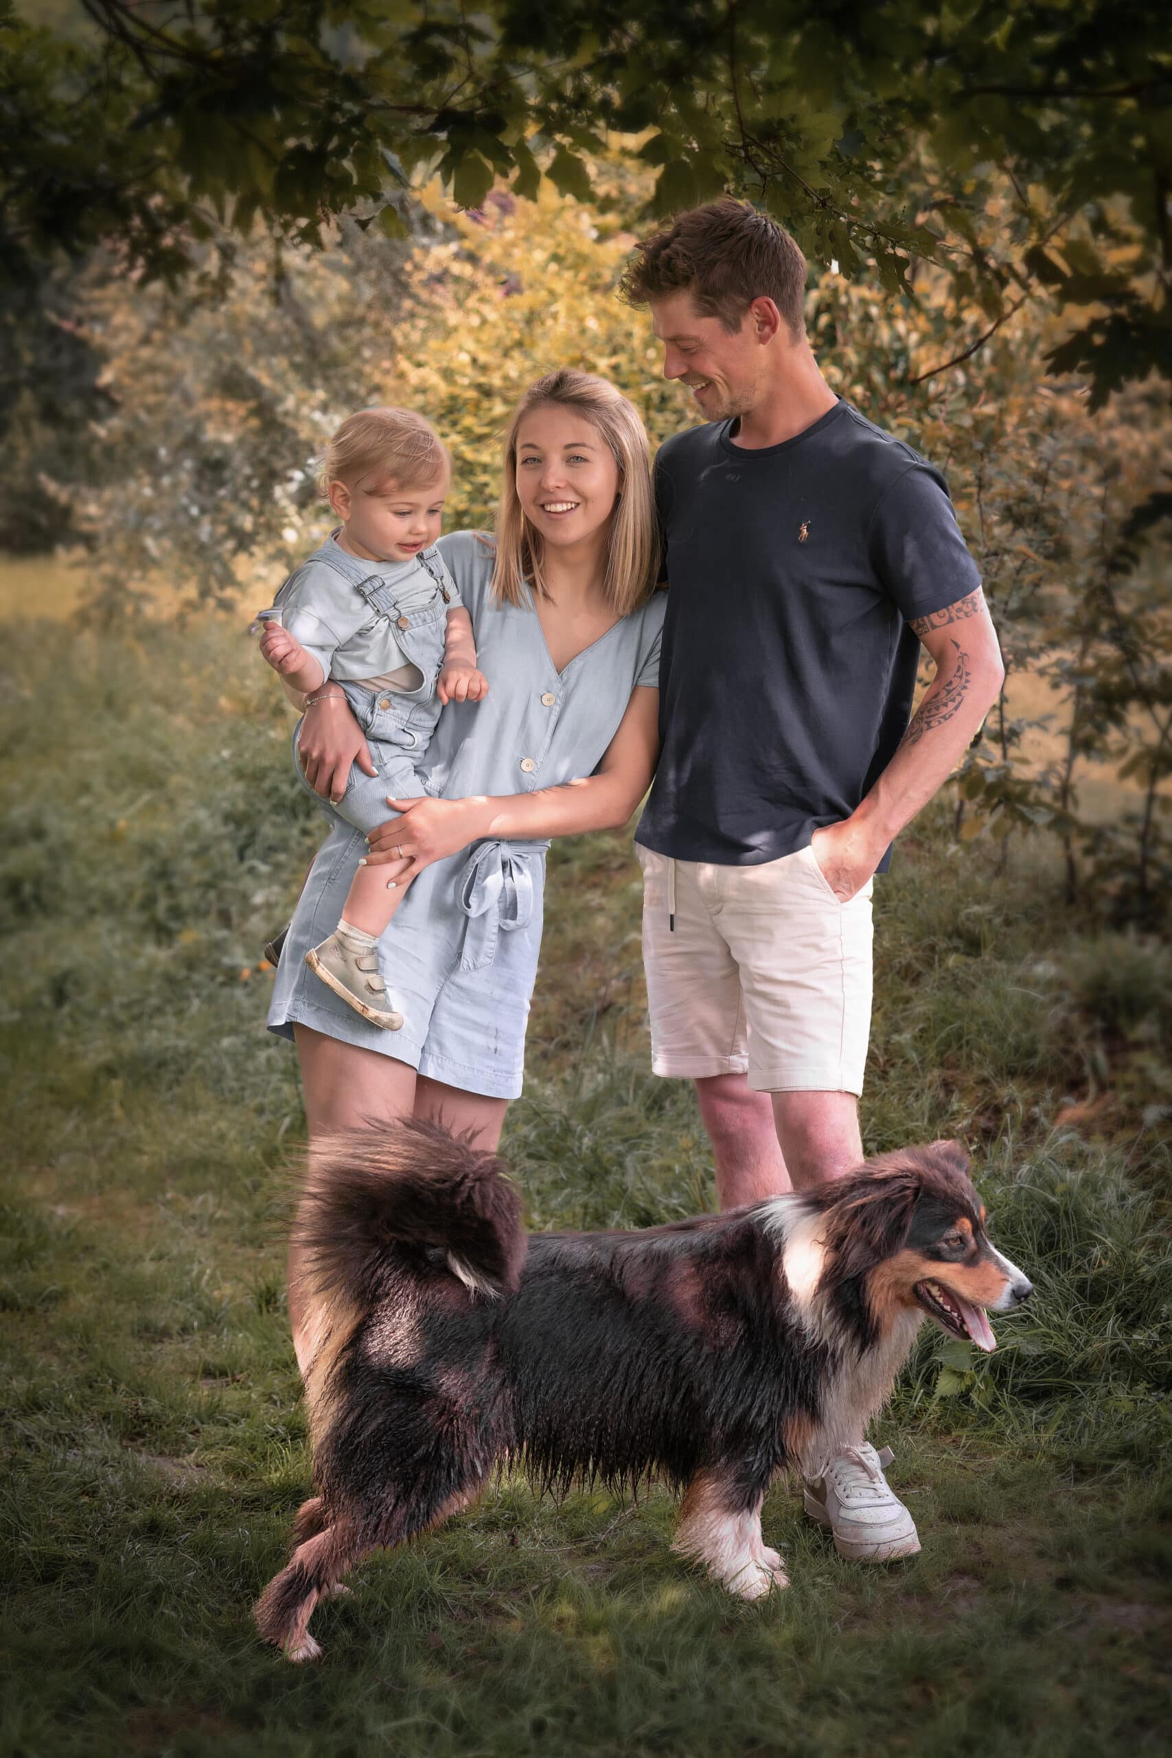
[{"label": "man's navy blue short-sleeved t-shirt with small chest logo", "polygon": [[940,471],[849,403],[761,450],[733,431],[655,457],[662,749],[636,840],[752,867],[857,807],[907,730],[910,621],[980,575]]}]

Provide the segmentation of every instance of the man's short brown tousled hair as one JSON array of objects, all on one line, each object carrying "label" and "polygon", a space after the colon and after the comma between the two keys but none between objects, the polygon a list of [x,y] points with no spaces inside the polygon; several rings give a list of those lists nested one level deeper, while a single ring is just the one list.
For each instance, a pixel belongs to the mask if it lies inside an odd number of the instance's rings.
[{"label": "man's short brown tousled hair", "polygon": [[771,299],[794,341],[805,336],[805,288],[807,258],[789,232],[733,195],[691,207],[643,239],[619,283],[631,306],[687,290],[729,332],[742,327],[754,299]]}]

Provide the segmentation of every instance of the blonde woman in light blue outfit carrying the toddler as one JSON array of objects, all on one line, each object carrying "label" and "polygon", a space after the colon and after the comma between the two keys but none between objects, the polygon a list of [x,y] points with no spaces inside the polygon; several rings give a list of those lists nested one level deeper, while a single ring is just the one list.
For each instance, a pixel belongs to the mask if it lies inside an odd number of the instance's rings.
[{"label": "blonde woman in light blue outfit carrying the toddler", "polygon": [[[496,541],[457,531],[441,550],[488,696],[441,716],[420,774],[443,798],[392,800],[402,816],[371,833],[369,851],[337,821],[306,881],[269,1028],[297,1042],[311,1141],[422,1116],[496,1148],[522,1086],[548,839],[626,825],[659,751],[647,434],[613,385],[573,371],[532,385],[506,438]],[[318,793],[364,751],[339,698],[318,701],[300,733]],[[304,955],[337,919],[360,858],[404,856],[411,891],[380,942],[404,1025],[385,1032],[318,983]],[[290,1318],[304,1368],[295,1264]]]}]

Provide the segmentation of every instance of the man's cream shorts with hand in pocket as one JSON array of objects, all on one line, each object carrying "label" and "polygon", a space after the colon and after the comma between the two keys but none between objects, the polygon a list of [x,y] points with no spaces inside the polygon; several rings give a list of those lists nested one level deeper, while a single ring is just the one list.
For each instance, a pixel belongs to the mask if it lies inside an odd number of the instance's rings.
[{"label": "man's cream shorts with hand in pocket", "polygon": [[759,867],[634,849],[655,1074],[747,1072],[757,1092],[861,1093],[872,881],[840,904],[810,847]]}]

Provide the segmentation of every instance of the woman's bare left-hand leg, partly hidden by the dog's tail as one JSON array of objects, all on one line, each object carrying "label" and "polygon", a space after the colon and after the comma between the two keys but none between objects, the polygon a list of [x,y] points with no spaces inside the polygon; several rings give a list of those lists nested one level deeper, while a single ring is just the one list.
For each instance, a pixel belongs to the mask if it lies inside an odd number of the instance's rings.
[{"label": "woman's bare left-hand leg, partly hidden by the dog's tail", "polygon": [[[415,1069],[376,1050],[343,1044],[325,1032],[295,1025],[300,1086],[306,1101],[309,1141],[336,1129],[364,1123],[394,1123],[415,1109]],[[300,1262],[295,1243],[288,1248],[288,1322],[302,1378],[313,1359],[315,1338],[300,1296]]]}]

